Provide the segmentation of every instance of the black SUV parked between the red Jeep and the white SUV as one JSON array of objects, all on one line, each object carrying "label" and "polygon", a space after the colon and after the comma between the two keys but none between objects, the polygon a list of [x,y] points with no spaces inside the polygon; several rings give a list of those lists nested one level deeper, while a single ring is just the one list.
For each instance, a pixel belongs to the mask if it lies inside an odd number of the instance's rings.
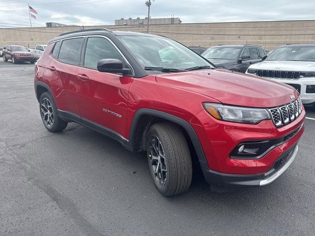
[{"label": "black SUV parked between the red Jeep and the white SUV", "polygon": [[220,45],[209,48],[201,56],[219,68],[245,73],[247,68],[266,57],[263,48],[255,45]]}]

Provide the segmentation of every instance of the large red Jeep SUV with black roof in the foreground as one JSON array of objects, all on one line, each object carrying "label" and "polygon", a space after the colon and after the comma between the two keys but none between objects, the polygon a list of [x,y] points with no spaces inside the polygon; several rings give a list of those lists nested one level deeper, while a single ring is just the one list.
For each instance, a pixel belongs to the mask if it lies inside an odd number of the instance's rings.
[{"label": "large red Jeep SUV with black roof in the foreground", "polygon": [[220,187],[271,183],[294,160],[305,111],[290,86],[218,69],[169,38],[107,29],[61,34],[35,67],[45,127],[77,122],[147,151],[158,191],[189,188],[191,158]]}]

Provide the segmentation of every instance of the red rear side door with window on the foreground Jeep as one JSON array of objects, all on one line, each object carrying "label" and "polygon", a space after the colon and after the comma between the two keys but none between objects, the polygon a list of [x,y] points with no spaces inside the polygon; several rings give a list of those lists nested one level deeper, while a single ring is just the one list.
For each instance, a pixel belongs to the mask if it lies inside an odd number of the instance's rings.
[{"label": "red rear side door with window on the foreground Jeep", "polygon": [[55,91],[58,109],[76,118],[80,116],[76,98],[76,71],[80,64],[83,43],[84,37],[56,42],[52,51],[53,59],[45,70],[50,88]]}]

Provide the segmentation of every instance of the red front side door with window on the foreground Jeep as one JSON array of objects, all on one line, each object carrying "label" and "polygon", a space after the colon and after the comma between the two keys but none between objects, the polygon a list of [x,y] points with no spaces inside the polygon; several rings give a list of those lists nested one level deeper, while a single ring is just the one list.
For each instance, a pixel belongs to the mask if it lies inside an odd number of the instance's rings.
[{"label": "red front side door with window on the foreground Jeep", "polygon": [[[87,39],[82,67],[77,70],[77,98],[82,123],[115,136],[126,137],[129,76],[97,71],[101,59],[120,59],[115,46],[105,37]],[[127,65],[125,65],[127,66]]]}]

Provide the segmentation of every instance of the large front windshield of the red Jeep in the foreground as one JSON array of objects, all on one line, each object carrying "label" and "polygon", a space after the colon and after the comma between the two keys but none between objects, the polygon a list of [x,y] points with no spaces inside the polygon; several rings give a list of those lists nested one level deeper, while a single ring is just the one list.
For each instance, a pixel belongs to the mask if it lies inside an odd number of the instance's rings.
[{"label": "large front windshield of the red Jeep in the foreground", "polygon": [[180,43],[162,37],[120,36],[131,54],[145,67],[185,70],[196,66],[210,66],[211,63]]}]

